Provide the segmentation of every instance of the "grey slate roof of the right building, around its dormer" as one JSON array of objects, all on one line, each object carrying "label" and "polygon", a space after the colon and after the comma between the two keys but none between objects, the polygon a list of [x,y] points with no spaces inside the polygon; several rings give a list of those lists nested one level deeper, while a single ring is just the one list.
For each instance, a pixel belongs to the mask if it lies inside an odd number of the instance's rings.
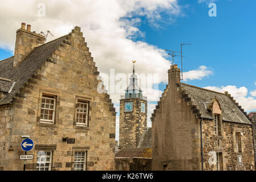
[{"label": "grey slate roof of the right building, around its dormer", "polygon": [[223,111],[222,119],[224,121],[251,124],[246,115],[226,94],[184,83],[181,83],[181,89],[185,90],[185,92],[191,98],[192,104],[196,105],[197,109],[200,110],[202,118],[213,119],[212,114],[206,108],[208,104],[210,104],[210,102],[216,97],[218,102],[220,102],[220,106]]}]

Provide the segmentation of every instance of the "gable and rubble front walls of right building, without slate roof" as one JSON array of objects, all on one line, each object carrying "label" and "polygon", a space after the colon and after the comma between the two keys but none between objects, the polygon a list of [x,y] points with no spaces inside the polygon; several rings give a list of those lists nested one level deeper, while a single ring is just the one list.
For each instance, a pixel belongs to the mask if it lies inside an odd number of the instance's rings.
[{"label": "gable and rubble front walls of right building, without slate roof", "polygon": [[[215,134],[214,119],[202,118],[201,142],[200,113],[181,90],[180,70],[174,65],[168,73],[169,84],[151,118],[153,170],[202,170],[201,148],[204,170],[217,170],[216,163],[209,162],[214,152],[222,155],[224,170],[255,170],[251,125],[222,121],[221,109],[214,102],[221,132]],[[235,133],[241,134],[241,152],[237,150]],[[238,156],[242,156],[241,166]]]}]

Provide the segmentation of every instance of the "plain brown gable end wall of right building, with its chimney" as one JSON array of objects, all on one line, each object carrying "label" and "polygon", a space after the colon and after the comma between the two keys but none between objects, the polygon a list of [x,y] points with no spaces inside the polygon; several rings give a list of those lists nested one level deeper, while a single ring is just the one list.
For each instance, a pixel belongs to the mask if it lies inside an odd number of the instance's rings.
[{"label": "plain brown gable end wall of right building, with its chimney", "polygon": [[200,170],[200,123],[182,98],[177,72],[169,71],[165,89],[152,119],[153,170]]}]

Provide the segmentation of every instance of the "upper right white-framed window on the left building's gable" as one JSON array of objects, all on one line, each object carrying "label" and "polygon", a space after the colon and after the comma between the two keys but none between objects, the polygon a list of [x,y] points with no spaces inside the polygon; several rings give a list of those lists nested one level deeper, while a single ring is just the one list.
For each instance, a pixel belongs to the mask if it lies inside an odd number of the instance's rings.
[{"label": "upper right white-framed window on the left building's gable", "polygon": [[78,100],[78,104],[76,104],[76,124],[88,125],[88,105],[89,102]]}]

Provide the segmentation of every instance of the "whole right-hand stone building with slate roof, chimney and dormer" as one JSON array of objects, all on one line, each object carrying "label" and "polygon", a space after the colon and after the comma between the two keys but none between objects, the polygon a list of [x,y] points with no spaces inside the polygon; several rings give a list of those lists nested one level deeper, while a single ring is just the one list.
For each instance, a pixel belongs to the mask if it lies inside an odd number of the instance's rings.
[{"label": "whole right-hand stone building with slate roof, chimney and dormer", "polygon": [[253,129],[229,93],[180,82],[168,85],[152,114],[153,170],[255,170]]}]

